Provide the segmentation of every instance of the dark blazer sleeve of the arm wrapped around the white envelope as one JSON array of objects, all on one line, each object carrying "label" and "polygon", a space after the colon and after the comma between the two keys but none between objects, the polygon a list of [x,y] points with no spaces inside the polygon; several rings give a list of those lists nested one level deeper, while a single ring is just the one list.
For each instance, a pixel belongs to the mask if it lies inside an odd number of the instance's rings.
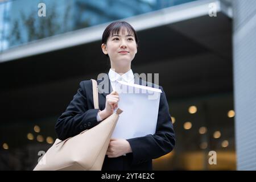
[{"label": "dark blazer sleeve of the arm wrapped around the white envelope", "polygon": [[166,95],[162,86],[159,86],[159,89],[162,90],[162,93],[160,94],[158,121],[155,134],[127,139],[130,143],[131,150],[133,151],[133,165],[159,158],[174,149],[175,132],[171,121],[171,115],[169,113]]}]

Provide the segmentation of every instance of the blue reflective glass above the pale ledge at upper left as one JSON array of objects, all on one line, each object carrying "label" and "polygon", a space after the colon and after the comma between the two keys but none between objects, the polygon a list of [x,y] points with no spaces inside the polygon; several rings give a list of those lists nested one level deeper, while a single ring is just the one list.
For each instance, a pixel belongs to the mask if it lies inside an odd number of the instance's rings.
[{"label": "blue reflective glass above the pale ledge at upper left", "polygon": [[[196,0],[44,0],[45,10],[38,7],[40,1],[0,1],[0,52],[33,40],[191,1]],[[39,16],[43,10],[46,16]]]}]

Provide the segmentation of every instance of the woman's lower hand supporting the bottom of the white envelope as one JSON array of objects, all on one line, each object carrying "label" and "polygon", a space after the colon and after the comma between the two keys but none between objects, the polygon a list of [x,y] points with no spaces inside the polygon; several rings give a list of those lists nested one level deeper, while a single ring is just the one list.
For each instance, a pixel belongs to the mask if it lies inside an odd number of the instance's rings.
[{"label": "woman's lower hand supporting the bottom of the white envelope", "polygon": [[117,158],[130,152],[132,152],[131,146],[127,140],[112,138],[110,139],[106,155],[108,155],[109,158]]}]

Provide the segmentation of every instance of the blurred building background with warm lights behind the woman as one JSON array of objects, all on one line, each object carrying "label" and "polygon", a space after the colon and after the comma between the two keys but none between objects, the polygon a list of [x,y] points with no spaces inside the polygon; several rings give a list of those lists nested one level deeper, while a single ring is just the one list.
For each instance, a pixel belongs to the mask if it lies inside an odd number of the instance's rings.
[{"label": "blurred building background with warm lights behind the woman", "polygon": [[10,0],[0,1],[0,170],[32,170],[79,82],[108,73],[101,36],[114,20],[137,30],[131,68],[159,73],[170,106],[177,144],[154,169],[256,169],[256,1]]}]

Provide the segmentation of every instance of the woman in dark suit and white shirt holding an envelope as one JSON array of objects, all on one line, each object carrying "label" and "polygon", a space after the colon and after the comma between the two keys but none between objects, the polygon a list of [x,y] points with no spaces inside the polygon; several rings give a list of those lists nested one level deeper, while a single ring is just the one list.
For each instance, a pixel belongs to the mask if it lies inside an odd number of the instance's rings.
[{"label": "woman in dark suit and white shirt holding an envelope", "polygon": [[[113,91],[117,80],[147,85],[131,70],[131,61],[137,53],[138,38],[134,28],[126,22],[113,22],[102,35],[102,52],[109,57],[111,68],[108,79],[97,80],[109,84],[108,93],[99,93],[100,109],[94,109],[92,82],[81,81],[80,88],[59,119],[55,129],[59,139],[73,137],[96,126],[113,114],[119,96]],[[152,84],[152,87],[156,85]],[[160,94],[158,121],[154,135],[130,139],[111,139],[102,170],[152,170],[152,159],[168,154],[175,146],[175,133],[163,88]],[[114,89],[115,90],[115,89]],[[85,143],[86,146],[86,143]]]}]

